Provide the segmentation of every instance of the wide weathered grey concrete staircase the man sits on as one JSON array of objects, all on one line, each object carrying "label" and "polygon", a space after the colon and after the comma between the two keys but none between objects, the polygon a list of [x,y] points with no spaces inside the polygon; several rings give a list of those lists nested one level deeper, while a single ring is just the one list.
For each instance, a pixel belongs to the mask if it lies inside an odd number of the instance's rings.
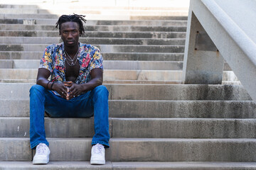
[{"label": "wide weathered grey concrete staircase the man sits on", "polygon": [[28,90],[62,11],[1,5],[0,169],[256,169],[256,106],[228,64],[223,85],[181,84],[186,11],[82,7],[80,42],[105,59],[107,164],[89,163],[93,118],[46,118],[50,163],[32,165]]}]

